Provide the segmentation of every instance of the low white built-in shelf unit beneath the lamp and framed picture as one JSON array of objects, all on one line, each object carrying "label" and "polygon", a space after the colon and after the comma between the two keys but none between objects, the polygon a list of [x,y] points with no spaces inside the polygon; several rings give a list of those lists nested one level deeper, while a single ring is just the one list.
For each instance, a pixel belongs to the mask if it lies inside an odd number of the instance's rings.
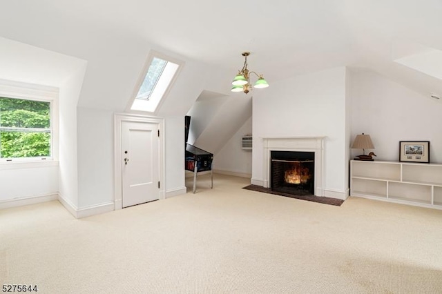
[{"label": "low white built-in shelf unit beneath the lamp and framed picture", "polygon": [[442,209],[442,164],[350,161],[350,195]]}]

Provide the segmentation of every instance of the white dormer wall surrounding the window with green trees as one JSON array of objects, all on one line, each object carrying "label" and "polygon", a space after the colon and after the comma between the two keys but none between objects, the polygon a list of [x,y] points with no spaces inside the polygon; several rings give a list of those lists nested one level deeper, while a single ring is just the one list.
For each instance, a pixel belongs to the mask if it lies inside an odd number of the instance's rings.
[{"label": "white dormer wall surrounding the window with green trees", "polygon": [[77,201],[75,106],[86,61],[0,37],[0,64],[1,79],[59,88],[57,103],[60,161],[44,167],[38,167],[38,164],[37,167],[25,164],[31,167],[23,168],[22,164],[18,164],[14,168],[0,168],[0,199],[15,201],[54,195],[62,191],[71,202],[75,203]]}]

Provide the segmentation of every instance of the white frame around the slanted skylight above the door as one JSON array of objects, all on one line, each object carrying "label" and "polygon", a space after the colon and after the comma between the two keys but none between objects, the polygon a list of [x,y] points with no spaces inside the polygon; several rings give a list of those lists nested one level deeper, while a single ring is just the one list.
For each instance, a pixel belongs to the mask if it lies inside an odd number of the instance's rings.
[{"label": "white frame around the slanted skylight above the door", "polygon": [[[135,110],[135,109],[132,109],[132,106],[133,106],[135,100],[137,99],[137,94],[138,94],[138,92],[140,90],[140,87],[142,86],[144,78],[146,77],[147,72],[149,70],[149,67],[151,66],[151,63],[152,63],[152,61],[153,61],[153,59],[155,57],[159,58],[159,59],[163,59],[163,60],[171,62],[171,63],[175,63],[178,66],[177,70],[175,71],[175,74],[173,75],[169,85],[166,87],[166,90],[164,90],[164,93],[163,93],[162,97],[157,102],[157,105],[155,105],[155,107],[154,107],[154,109],[152,111],[151,110]],[[170,92],[171,88],[173,87],[173,85],[175,84],[175,81],[176,81],[178,75],[180,75],[180,72],[181,72],[183,67],[184,67],[184,61],[181,61],[179,59],[175,59],[175,58],[170,57],[168,55],[164,55],[164,54],[162,54],[160,52],[157,52],[155,50],[151,50],[148,53],[148,57],[146,59],[146,62],[144,63],[142,71],[140,72],[140,75],[139,75],[139,77],[137,79],[137,84],[135,84],[135,88],[133,90],[131,99],[129,99],[129,101],[128,101],[128,104],[126,106],[126,112],[131,112],[131,113],[141,114],[141,115],[146,115],[146,114],[156,115],[158,109],[160,109],[160,107],[162,106],[162,103],[164,102],[164,99],[167,97],[167,95],[169,95],[169,92]],[[160,79],[161,79],[161,75],[160,75]],[[155,87],[153,89],[155,89]],[[146,104],[153,103],[153,101],[149,101],[149,100],[143,100],[143,99],[137,99],[137,100],[142,100]]]}]

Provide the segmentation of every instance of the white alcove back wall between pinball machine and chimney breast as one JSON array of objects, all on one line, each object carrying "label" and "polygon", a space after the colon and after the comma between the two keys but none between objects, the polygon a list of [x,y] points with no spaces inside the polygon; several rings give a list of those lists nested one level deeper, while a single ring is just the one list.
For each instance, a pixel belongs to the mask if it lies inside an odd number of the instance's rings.
[{"label": "white alcove back wall between pinball machine and chimney breast", "polygon": [[213,155],[213,169],[251,177],[251,150],[242,149],[241,142],[244,135],[251,135],[251,133],[252,119],[249,117],[220,152]]}]

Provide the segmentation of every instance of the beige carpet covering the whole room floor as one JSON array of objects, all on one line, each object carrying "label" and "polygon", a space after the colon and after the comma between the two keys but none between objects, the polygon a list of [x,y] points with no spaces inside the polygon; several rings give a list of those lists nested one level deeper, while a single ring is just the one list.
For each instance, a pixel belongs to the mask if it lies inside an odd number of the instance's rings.
[{"label": "beige carpet covering the whole room floor", "polygon": [[[191,178],[186,179],[191,187]],[[74,219],[0,210],[0,285],[40,293],[442,293],[442,211],[342,206],[198,177],[197,193]],[[188,190],[190,190],[188,188]]]}]

